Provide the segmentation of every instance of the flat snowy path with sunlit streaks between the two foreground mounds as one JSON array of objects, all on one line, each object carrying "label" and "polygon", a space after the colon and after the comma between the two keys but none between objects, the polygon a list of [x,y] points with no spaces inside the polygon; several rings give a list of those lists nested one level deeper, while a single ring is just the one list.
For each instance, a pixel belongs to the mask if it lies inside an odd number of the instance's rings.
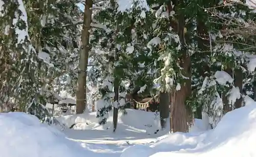
[{"label": "flat snowy path with sunlit streaks between the two foreground mounds", "polygon": [[[147,136],[135,138],[130,136],[121,136],[120,134],[109,133],[101,130],[101,135],[97,137],[99,130],[65,130],[68,139],[80,143],[87,150],[95,152],[95,156],[119,157],[128,147],[141,144],[153,144],[158,138],[146,138]],[[99,133],[99,134],[100,134]],[[117,136],[117,137],[115,137]],[[79,138],[80,137],[80,138]]]}]

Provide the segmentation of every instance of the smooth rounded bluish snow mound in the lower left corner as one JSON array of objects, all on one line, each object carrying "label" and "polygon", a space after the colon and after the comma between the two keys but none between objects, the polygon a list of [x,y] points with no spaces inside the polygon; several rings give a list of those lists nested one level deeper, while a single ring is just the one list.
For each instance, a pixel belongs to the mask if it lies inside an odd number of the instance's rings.
[{"label": "smooth rounded bluish snow mound in the lower left corner", "polygon": [[35,116],[20,112],[0,114],[0,135],[1,155],[7,157],[78,157],[92,153]]}]

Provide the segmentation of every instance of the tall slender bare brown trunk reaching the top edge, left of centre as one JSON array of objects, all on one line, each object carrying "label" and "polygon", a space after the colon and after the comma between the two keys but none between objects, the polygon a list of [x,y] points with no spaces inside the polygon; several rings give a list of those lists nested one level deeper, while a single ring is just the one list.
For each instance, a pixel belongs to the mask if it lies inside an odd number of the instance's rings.
[{"label": "tall slender bare brown trunk reaching the top edge, left of centre", "polygon": [[82,35],[81,35],[81,48],[79,51],[79,73],[77,80],[77,92],[76,92],[76,113],[83,113],[86,109],[87,98],[86,98],[86,77],[87,77],[87,66],[88,66],[88,57],[89,57],[89,37],[90,37],[90,28],[92,21],[92,8],[93,1],[87,0],[84,7],[83,14],[83,26],[82,26]]}]

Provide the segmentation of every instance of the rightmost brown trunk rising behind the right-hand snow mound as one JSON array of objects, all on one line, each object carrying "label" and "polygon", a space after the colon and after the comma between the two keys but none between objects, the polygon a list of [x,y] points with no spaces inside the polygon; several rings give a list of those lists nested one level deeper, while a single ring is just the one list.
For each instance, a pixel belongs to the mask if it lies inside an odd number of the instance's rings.
[{"label": "rightmost brown trunk rising behind the right-hand snow mound", "polygon": [[[240,93],[243,92],[243,71],[241,68],[234,70],[234,86],[239,88]],[[242,96],[234,103],[236,109],[242,107]]]}]

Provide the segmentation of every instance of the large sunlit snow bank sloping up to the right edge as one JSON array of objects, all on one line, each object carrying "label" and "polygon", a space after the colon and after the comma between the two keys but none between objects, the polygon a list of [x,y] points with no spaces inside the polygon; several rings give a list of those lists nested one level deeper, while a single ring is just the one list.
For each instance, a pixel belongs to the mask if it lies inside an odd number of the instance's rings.
[{"label": "large sunlit snow bank sloping up to the right edge", "polygon": [[[256,156],[256,102],[227,113],[215,129],[205,133],[175,133],[143,148],[126,149],[126,156]],[[138,154],[138,155],[137,155]]]}]

